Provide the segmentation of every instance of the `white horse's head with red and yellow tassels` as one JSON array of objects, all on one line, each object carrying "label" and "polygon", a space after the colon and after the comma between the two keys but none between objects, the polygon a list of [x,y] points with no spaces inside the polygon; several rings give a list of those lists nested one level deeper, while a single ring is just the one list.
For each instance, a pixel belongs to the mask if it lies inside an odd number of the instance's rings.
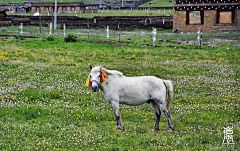
[{"label": "white horse's head with red and yellow tassels", "polygon": [[88,87],[92,87],[93,92],[97,92],[99,85],[106,80],[106,76],[101,71],[101,66],[93,68],[92,65],[90,65],[90,69],[91,73],[89,75],[89,79],[87,80],[89,84]]}]

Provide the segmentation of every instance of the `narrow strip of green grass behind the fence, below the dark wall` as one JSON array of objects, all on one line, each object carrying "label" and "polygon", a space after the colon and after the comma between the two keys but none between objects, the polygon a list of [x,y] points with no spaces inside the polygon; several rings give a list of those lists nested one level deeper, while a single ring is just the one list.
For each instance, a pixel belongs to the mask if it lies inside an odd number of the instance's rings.
[{"label": "narrow strip of green grass behind the fence, below the dark wall", "polygon": [[[119,39],[121,41],[128,41],[133,43],[141,43],[152,45],[152,30],[142,30],[142,29],[135,29],[133,31],[125,31],[122,28],[121,24],[119,25],[120,30],[109,30],[109,37],[110,39]],[[42,27],[41,34],[39,33],[39,27],[34,26],[23,26],[23,36],[36,36],[46,38],[49,35],[50,28],[49,27]],[[60,30],[60,25],[57,25],[57,29],[54,31],[53,35],[56,37],[63,37],[63,30]],[[81,38],[87,38],[88,32],[90,38],[106,38],[106,29],[84,29],[84,28],[77,28],[77,29],[67,29],[66,35],[74,34]],[[20,29],[19,26],[9,26],[9,27],[1,27],[0,28],[0,35],[17,35],[20,36]],[[4,38],[4,37],[3,37]],[[1,38],[0,38],[1,39]],[[196,33],[185,33],[185,34],[173,34],[172,29],[157,29],[157,44],[162,44],[162,40],[171,40],[171,41],[193,41],[197,39]],[[225,41],[240,41],[240,32],[226,32],[226,33],[203,33],[202,34],[202,41],[209,42],[210,44],[213,43],[225,43]],[[172,43],[171,43],[172,45]],[[161,46],[161,45],[159,45]],[[176,45],[179,47],[179,45]]]}]

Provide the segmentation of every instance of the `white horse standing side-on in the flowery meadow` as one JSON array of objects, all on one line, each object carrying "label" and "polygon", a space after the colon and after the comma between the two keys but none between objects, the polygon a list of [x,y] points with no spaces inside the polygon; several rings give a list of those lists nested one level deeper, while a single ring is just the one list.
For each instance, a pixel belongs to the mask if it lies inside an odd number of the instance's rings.
[{"label": "white horse standing side-on in the flowery meadow", "polygon": [[[112,105],[117,120],[117,129],[124,130],[119,104],[136,106],[151,103],[156,114],[154,130],[159,130],[160,109],[167,117],[169,131],[174,130],[170,116],[170,105],[173,99],[171,81],[154,76],[126,77],[119,71],[107,70],[101,66],[92,68],[90,65],[90,69],[89,83],[92,91],[97,92],[100,89],[105,99]],[[101,83],[102,73],[106,77],[104,83]]]}]

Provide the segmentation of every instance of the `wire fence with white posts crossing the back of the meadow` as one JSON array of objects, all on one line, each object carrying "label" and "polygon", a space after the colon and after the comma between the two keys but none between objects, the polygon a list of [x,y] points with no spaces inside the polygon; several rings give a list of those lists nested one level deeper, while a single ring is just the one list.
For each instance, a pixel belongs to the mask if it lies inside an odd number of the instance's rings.
[{"label": "wire fence with white posts crossing the back of the meadow", "polygon": [[[51,27],[51,26],[50,26]],[[58,37],[64,37],[68,34],[74,34],[78,37],[82,38],[110,38],[110,39],[119,39],[119,40],[126,40],[126,39],[136,39],[136,38],[153,38],[153,32],[150,30],[144,29],[136,29],[134,31],[126,31],[121,29],[121,25],[119,25],[119,30],[111,30],[111,29],[73,29],[73,30],[60,30],[59,26],[58,29],[54,30],[54,33],[51,31],[50,27],[41,27],[41,34],[39,33],[39,27],[34,26],[9,26],[9,27],[0,27],[0,32],[5,34],[15,34],[19,36],[48,36],[50,34]],[[66,27],[65,27],[66,29]],[[157,30],[155,43],[158,44],[159,40],[163,41],[197,41],[199,37],[199,32],[196,33],[183,33],[183,34],[175,34],[169,33],[171,30],[167,30],[168,33],[163,33],[163,30]],[[222,32],[222,33],[202,33],[202,41],[213,41],[215,40],[228,40],[233,42],[239,42],[240,39],[240,32]],[[153,44],[153,43],[152,43]]]}]

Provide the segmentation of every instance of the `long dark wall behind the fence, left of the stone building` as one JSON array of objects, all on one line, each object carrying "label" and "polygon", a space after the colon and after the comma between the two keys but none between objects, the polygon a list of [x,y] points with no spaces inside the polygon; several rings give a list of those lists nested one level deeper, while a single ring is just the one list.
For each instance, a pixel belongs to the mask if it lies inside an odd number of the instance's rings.
[{"label": "long dark wall behind the fence, left of the stone building", "polygon": [[[28,18],[31,24],[39,24],[38,16],[17,16],[10,15],[8,20],[13,21],[18,18],[19,20],[26,20]],[[42,16],[42,24],[47,24],[52,21],[51,16]],[[163,28],[172,29],[173,16],[95,16],[93,18],[84,18],[77,16],[58,16],[57,24],[66,24],[67,29],[73,28],[106,28],[109,26],[110,29],[118,30],[118,25],[120,30],[133,30],[133,29],[152,29]],[[16,24],[17,25],[17,24]]]}]

